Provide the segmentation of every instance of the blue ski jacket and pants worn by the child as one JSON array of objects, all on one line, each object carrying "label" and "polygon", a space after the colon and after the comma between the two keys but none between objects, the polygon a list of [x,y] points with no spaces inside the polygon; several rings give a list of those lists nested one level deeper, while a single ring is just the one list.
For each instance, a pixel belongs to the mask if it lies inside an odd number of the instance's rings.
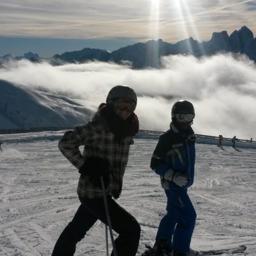
[{"label": "blue ski jacket and pants worn by the child", "polygon": [[[150,167],[161,177],[162,187],[167,196],[167,214],[162,218],[156,235],[156,243],[162,238],[175,251],[187,253],[195,227],[196,213],[187,194],[194,182],[195,134],[191,127],[186,132],[178,130],[173,123],[160,136],[151,158]],[[164,179],[168,170],[189,177],[186,186],[179,187],[173,181]]]}]

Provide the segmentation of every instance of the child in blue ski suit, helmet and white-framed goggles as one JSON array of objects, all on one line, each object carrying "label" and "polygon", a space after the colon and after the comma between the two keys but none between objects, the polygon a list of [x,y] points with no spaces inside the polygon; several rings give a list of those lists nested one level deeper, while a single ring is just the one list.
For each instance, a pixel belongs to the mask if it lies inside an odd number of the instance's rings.
[{"label": "child in blue ski suit, helmet and white-framed goggles", "polygon": [[142,256],[199,256],[190,249],[196,213],[187,194],[194,181],[195,134],[191,125],[195,110],[189,101],[176,102],[170,129],[160,136],[150,167],[160,175],[167,196],[167,214],[162,218],[155,245]]}]

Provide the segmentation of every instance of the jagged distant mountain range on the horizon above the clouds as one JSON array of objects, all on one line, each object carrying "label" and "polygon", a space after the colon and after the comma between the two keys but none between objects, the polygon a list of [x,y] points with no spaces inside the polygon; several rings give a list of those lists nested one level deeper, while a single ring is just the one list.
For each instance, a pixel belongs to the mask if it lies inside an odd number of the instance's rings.
[{"label": "jagged distant mountain range on the horizon above the clouds", "polygon": [[227,31],[214,32],[209,41],[202,43],[192,37],[179,41],[175,44],[159,40],[149,40],[146,43],[137,43],[127,47],[122,47],[116,51],[84,48],[81,51],[65,52],[55,54],[53,57],[42,59],[38,54],[31,52],[23,57],[12,57],[7,54],[0,57],[0,67],[9,60],[20,60],[26,58],[33,62],[48,61],[52,65],[62,65],[63,63],[84,63],[87,61],[113,61],[115,63],[130,62],[133,68],[161,67],[161,56],[170,54],[191,54],[196,57],[203,55],[213,55],[217,53],[246,54],[250,60],[256,62],[256,38],[251,30],[243,26],[240,30],[235,30],[230,36]]}]

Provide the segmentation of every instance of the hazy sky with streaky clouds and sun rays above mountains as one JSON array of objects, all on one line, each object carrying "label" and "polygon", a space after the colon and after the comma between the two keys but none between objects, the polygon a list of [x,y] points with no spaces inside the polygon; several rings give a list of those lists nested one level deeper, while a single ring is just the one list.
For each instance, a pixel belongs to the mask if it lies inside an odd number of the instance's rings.
[{"label": "hazy sky with streaky clouds and sun rays above mountains", "polygon": [[256,0],[8,0],[0,2],[0,56],[41,57],[85,47],[110,51],[151,39],[210,40],[247,26]]}]

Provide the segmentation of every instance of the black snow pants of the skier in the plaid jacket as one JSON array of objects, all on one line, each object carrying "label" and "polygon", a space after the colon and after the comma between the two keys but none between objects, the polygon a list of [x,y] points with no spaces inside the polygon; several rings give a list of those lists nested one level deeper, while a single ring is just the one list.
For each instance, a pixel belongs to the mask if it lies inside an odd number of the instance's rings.
[{"label": "black snow pants of the skier in the plaid jacket", "polygon": [[[102,198],[79,198],[81,205],[74,218],[58,238],[52,256],[73,256],[76,243],[80,242],[86,232],[99,219],[107,224],[104,200]],[[141,227],[136,219],[108,196],[108,209],[112,229],[119,235],[115,239],[118,256],[135,256],[141,235]],[[111,256],[114,256],[112,251]]]}]

